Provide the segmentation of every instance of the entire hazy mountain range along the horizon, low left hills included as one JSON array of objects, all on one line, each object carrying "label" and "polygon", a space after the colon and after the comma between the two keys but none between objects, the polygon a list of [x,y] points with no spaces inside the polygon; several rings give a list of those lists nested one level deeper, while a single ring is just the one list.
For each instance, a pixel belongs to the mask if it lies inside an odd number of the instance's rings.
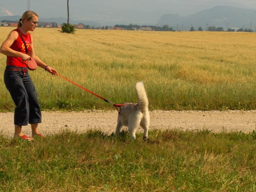
[{"label": "entire hazy mountain range along the horizon, low left hills included", "polygon": [[[19,20],[21,16],[2,16],[1,20]],[[41,22],[56,22],[58,24],[66,23],[67,18],[40,18]],[[114,26],[115,24],[127,24],[117,20],[114,24],[109,20],[69,20],[70,24],[83,23],[91,26]],[[133,23],[136,24],[136,23]],[[206,27],[215,26],[227,28],[248,28],[256,29],[256,12],[252,9],[236,8],[232,6],[215,6],[214,8],[204,9],[195,14],[189,16],[180,16],[179,14],[164,14],[160,17],[157,24],[158,26],[168,25],[173,29],[184,31],[190,30],[191,27],[198,29],[202,27],[206,30]]]}]

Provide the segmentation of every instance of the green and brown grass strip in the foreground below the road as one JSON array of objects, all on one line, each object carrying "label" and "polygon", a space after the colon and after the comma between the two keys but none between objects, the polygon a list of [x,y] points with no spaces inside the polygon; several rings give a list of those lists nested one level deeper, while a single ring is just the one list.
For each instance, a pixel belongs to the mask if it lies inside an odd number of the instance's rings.
[{"label": "green and brown grass strip in the foreground below the road", "polygon": [[1,191],[255,191],[256,133],[63,131],[0,136]]}]

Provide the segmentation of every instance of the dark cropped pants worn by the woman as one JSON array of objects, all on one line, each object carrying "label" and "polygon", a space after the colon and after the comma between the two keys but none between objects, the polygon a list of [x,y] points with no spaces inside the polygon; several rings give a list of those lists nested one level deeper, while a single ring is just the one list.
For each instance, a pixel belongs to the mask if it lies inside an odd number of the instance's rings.
[{"label": "dark cropped pants worn by the woman", "polygon": [[16,105],[14,125],[41,123],[42,116],[36,89],[27,69],[7,66],[4,71],[4,84]]}]

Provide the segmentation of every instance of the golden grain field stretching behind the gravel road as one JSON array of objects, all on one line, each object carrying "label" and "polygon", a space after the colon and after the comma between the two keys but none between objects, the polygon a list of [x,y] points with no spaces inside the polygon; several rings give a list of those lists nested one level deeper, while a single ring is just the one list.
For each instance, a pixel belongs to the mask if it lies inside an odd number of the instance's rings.
[{"label": "golden grain field stretching behind the gravel road", "polygon": [[[11,29],[1,27],[0,41]],[[113,103],[136,102],[135,84],[143,81],[150,110],[256,109],[256,33],[58,30],[32,32],[36,54]],[[0,55],[0,62],[5,60]],[[43,69],[30,75],[43,110],[113,109]],[[13,111],[2,81],[0,110]]]}]

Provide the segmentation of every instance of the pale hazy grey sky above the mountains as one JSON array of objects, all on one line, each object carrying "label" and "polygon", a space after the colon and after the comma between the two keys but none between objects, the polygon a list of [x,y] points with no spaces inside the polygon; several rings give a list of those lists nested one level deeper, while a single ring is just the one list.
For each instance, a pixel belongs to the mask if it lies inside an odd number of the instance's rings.
[{"label": "pale hazy grey sky above the mountains", "polygon": [[[163,14],[188,16],[218,5],[256,10],[256,0],[69,0],[70,19],[156,23]],[[0,0],[0,16],[22,15],[27,0]],[[31,0],[40,18],[67,18],[67,0]]]}]

